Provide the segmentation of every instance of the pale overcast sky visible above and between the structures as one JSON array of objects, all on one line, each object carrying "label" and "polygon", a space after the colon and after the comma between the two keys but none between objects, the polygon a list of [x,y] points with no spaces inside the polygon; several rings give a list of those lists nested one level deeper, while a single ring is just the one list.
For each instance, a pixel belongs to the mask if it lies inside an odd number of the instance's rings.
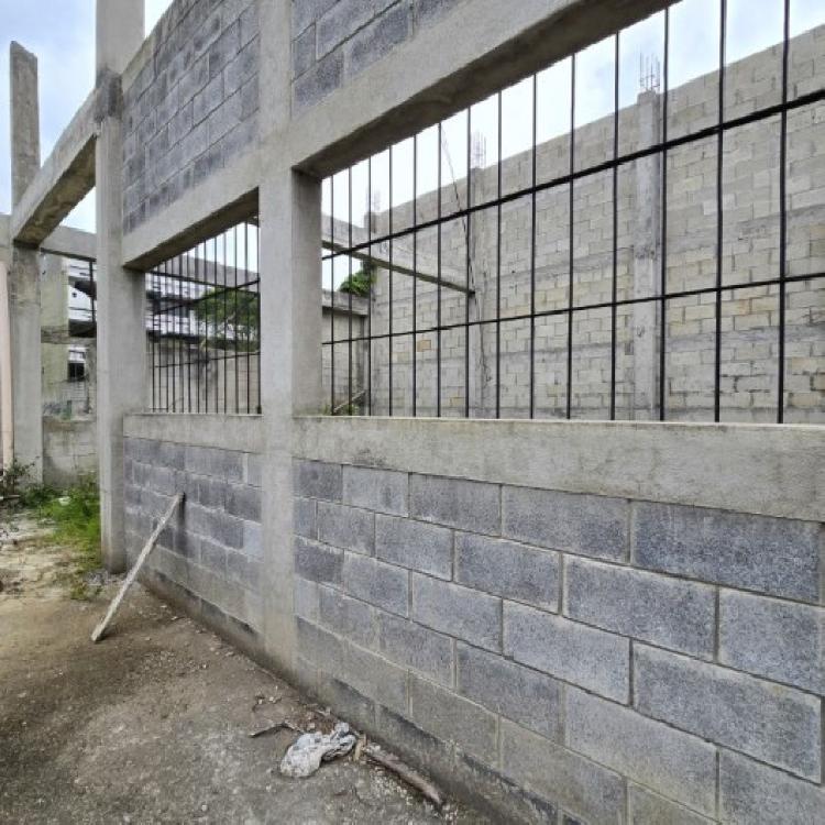
[{"label": "pale overcast sky visible above and between the structures", "polygon": [[[691,77],[712,72],[718,61],[719,0],[683,0],[671,12],[671,86]],[[146,0],[146,30],[151,31],[169,0]],[[728,0],[728,59],[735,61],[781,40],[782,0]],[[662,24],[657,15],[623,34],[620,74],[622,103],[628,105],[639,87],[639,57],[659,58],[662,54]],[[825,22],[825,0],[791,0],[792,34]],[[91,90],[95,75],[95,0],[0,0],[0,212],[10,211],[9,169],[9,43],[19,41],[33,51],[40,62],[41,152],[48,156],[56,139]],[[543,74],[540,81],[538,118],[539,140],[560,134],[569,119],[569,67],[566,62]],[[613,46],[596,44],[582,54],[576,69],[578,122],[602,117],[612,110]],[[565,94],[568,95],[564,100]],[[529,146],[531,84],[513,88],[505,96],[504,155]],[[495,109],[487,106],[473,110],[473,129],[486,135],[487,161],[495,160]],[[465,168],[466,122],[453,119],[444,129],[450,162],[457,177]],[[419,145],[420,168],[437,168],[438,146],[427,139]],[[428,157],[427,152],[431,157]],[[410,144],[398,150],[396,167],[411,168]],[[463,155],[463,157],[462,157]],[[374,164],[376,165],[376,164]],[[380,165],[380,164],[377,164]],[[375,173],[375,170],[374,170]],[[397,173],[394,202],[411,195],[411,174]],[[377,172],[374,178],[381,176]],[[446,182],[449,173],[444,170]],[[435,180],[419,180],[425,191]],[[340,188],[340,187],[339,187]],[[384,187],[386,189],[386,186]],[[353,183],[353,211],[361,215],[366,207],[365,187]],[[337,193],[336,200],[343,196]],[[387,195],[383,195],[383,206]],[[67,223],[94,231],[94,198],[87,198],[69,217]],[[343,211],[337,204],[337,212]]]}]

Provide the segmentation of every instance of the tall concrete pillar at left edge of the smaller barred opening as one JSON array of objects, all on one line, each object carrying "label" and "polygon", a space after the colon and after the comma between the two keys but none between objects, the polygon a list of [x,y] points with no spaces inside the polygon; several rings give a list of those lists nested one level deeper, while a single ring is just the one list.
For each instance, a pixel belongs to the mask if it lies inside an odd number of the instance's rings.
[{"label": "tall concrete pillar at left edge of the smaller barred opening", "polygon": [[103,563],[127,565],[123,416],[143,408],[145,287],[122,266],[123,129],[120,73],[143,41],[143,0],[97,1],[98,474]]}]

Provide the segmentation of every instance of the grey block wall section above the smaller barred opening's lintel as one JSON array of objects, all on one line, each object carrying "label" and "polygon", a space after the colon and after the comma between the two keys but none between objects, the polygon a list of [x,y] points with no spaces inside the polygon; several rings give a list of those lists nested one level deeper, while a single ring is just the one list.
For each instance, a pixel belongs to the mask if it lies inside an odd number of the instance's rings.
[{"label": "grey block wall section above the smaller barred opening's lintel", "polygon": [[123,90],[123,231],[160,213],[257,138],[257,0],[175,0]]}]

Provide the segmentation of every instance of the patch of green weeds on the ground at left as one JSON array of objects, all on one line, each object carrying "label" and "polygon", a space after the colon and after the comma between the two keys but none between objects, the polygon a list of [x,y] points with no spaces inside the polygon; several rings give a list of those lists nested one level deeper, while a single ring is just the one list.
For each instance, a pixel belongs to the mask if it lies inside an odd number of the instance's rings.
[{"label": "patch of green weeds on the ground at left", "polygon": [[94,598],[100,584],[89,584],[90,574],[100,570],[100,496],[94,479],[61,493],[50,487],[26,491],[29,504],[36,515],[54,527],[52,541],[72,553],[66,581],[69,596]]}]

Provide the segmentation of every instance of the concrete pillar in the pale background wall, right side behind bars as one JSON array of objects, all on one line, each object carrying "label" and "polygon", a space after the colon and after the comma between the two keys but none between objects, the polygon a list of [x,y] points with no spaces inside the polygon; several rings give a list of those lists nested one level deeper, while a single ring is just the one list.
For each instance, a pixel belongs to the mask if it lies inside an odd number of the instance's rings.
[{"label": "concrete pillar in the pale background wall, right side behind bars", "polygon": [[[639,145],[659,141],[659,95],[639,95]],[[661,278],[661,161],[651,155],[636,162],[636,213],[634,222],[634,298],[659,294]],[[657,417],[659,373],[659,304],[634,304],[632,309],[632,418]]]}]

